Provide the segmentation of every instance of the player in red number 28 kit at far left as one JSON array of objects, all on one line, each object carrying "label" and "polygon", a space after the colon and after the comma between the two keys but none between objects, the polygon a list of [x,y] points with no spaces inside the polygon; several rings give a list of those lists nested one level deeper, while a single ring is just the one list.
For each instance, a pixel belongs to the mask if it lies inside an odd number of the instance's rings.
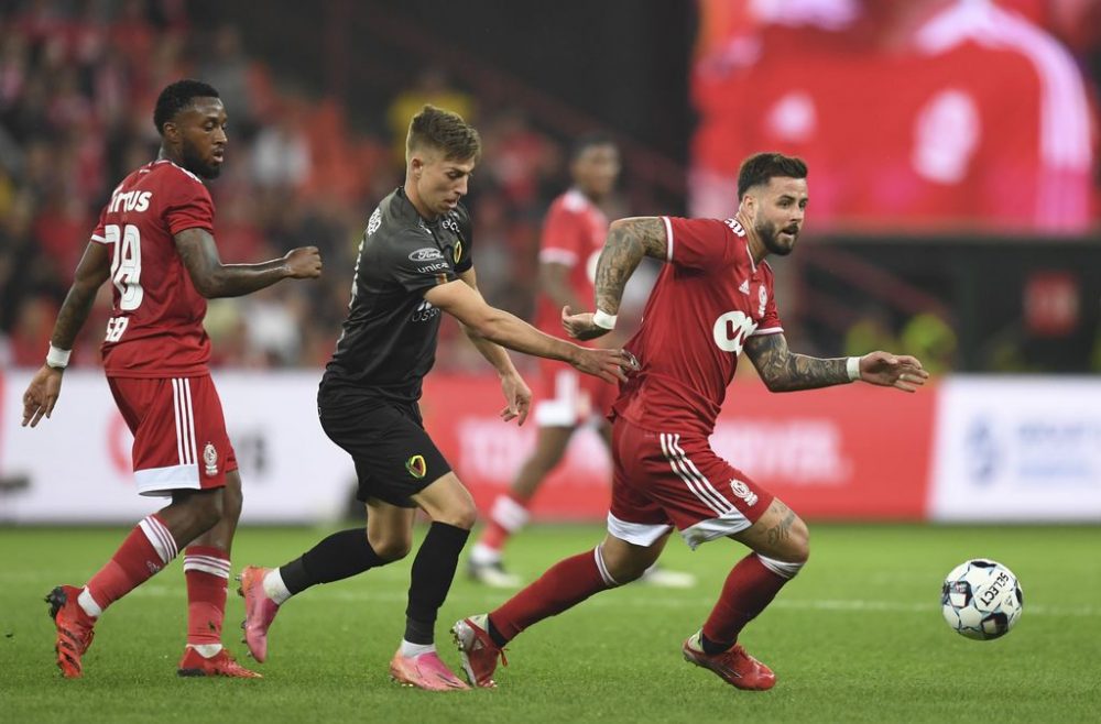
[{"label": "player in red number 28 kit at far left", "polygon": [[222,264],[214,204],[203,179],[225,158],[226,109],[218,91],[179,80],[161,91],[153,122],[156,161],[127,176],[103,207],[57,315],[46,363],[23,394],[23,426],[50,417],[77,332],[110,279],[113,310],[103,368],[134,435],[142,495],[172,503],[144,518],[84,588],[58,585],[46,601],[57,626],[57,666],[81,676],[96,621],[117,600],[184,553],[187,646],[179,676],[258,678],[221,646],[230,545],[241,514],[241,479],[207,363],[206,299],[235,297],[281,279],[316,278],[314,246],[261,264]]}]

